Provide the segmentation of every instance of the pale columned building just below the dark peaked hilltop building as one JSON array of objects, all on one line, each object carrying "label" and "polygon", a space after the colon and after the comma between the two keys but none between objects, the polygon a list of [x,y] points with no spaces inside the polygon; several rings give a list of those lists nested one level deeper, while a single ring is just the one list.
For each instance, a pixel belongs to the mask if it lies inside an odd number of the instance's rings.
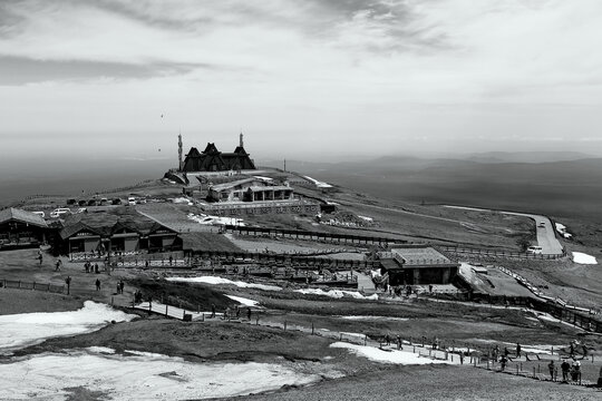
[{"label": "pale columned building just below the dark peaked hilltop building", "polygon": [[244,178],[231,183],[212,185],[208,188],[210,202],[266,202],[292,200],[293,188],[276,185],[265,178]]}]

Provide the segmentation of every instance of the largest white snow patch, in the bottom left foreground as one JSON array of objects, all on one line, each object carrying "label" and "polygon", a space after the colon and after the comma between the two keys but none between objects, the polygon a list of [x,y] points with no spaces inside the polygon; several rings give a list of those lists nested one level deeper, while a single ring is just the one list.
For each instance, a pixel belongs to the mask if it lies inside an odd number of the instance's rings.
[{"label": "largest white snow patch, in the bottom left foreground", "polygon": [[[46,353],[0,364],[0,388],[11,400],[65,400],[84,387],[109,400],[225,398],[320,380],[274,363],[192,363],[158,354]],[[72,394],[71,394],[72,395]],[[105,399],[105,398],[103,398]]]}]

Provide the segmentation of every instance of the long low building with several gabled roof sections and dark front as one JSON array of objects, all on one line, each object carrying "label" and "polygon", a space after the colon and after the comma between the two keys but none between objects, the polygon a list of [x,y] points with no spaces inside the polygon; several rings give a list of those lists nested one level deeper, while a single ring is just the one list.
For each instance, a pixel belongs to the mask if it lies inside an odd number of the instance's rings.
[{"label": "long low building with several gabled roof sections and dark front", "polygon": [[80,213],[65,219],[59,232],[61,251],[79,254],[137,254],[182,250],[178,233],[126,207],[103,213]]}]

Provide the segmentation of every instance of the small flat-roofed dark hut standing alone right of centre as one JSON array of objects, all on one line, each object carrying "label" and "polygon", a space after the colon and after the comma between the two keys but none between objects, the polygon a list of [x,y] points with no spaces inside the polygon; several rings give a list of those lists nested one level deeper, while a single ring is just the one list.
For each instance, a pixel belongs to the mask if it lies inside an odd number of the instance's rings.
[{"label": "small flat-roofed dark hut standing alone right of centre", "polygon": [[459,268],[459,263],[426,245],[395,248],[391,255],[381,260],[381,270],[389,273],[392,286],[450,284]]}]

